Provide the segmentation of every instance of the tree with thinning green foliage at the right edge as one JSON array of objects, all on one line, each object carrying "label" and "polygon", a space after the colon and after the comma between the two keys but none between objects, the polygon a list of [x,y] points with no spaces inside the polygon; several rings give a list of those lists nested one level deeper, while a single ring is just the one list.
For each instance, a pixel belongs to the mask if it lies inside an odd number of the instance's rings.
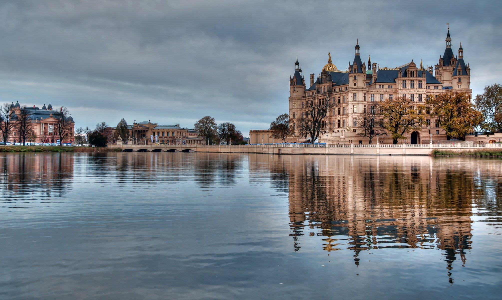
[{"label": "tree with thinning green foliage at the right edge", "polygon": [[476,109],[483,115],[481,127],[488,131],[502,131],[502,86],[486,85],[484,92],[474,98]]}]

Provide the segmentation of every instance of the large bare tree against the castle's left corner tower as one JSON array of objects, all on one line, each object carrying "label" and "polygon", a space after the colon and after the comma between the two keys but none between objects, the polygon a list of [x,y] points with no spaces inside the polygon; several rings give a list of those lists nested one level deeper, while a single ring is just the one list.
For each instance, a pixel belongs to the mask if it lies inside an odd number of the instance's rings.
[{"label": "large bare tree against the castle's left corner tower", "polygon": [[331,101],[331,92],[321,93],[312,100],[307,100],[302,117],[299,120],[300,134],[310,136],[311,144],[314,144],[319,136],[326,132],[328,124],[326,116],[335,104]]}]

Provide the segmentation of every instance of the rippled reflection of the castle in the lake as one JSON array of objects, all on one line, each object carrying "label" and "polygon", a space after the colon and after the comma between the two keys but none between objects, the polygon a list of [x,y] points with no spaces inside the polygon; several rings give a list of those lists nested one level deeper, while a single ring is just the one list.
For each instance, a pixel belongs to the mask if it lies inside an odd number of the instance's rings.
[{"label": "rippled reflection of the castle in the lake", "polygon": [[458,258],[465,265],[473,209],[501,204],[500,161],[286,155],[270,160],[272,178],[288,189],[295,251],[303,239],[321,236],[324,250],[349,249],[355,264],[361,251],[422,248],[440,249],[449,270]]}]

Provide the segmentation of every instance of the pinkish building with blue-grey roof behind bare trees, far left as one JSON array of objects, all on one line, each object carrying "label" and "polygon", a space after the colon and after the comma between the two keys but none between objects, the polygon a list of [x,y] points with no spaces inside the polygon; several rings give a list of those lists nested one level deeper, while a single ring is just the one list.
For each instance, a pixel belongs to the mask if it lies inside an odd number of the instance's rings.
[{"label": "pinkish building with blue-grey roof behind bare trees, far left", "polygon": [[[18,103],[11,105],[11,110],[14,110],[17,119],[21,114],[21,105]],[[26,107],[27,112],[30,115],[30,123],[32,127],[32,134],[30,137],[27,137],[26,142],[34,142],[34,143],[57,143],[59,138],[58,135],[58,119],[54,117],[56,111],[52,109],[52,105],[49,103],[49,106],[44,106],[42,109],[39,109],[36,106]],[[66,121],[69,123],[68,127],[68,135],[63,138],[63,143],[72,143],[74,140],[74,129],[75,122],[73,118],[68,116]],[[19,143],[20,142],[19,133],[14,127],[11,130],[9,138],[6,142]],[[21,141],[22,142],[22,141]]]}]

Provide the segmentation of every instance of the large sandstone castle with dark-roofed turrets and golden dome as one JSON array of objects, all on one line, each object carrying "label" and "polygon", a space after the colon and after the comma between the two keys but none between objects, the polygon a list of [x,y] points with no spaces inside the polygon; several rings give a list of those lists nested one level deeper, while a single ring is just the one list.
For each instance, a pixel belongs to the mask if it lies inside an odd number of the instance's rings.
[{"label": "large sandstone castle with dark-roofed turrets and golden dome", "polygon": [[[374,108],[374,103],[384,101],[386,98],[406,97],[410,102],[424,103],[427,95],[438,95],[448,90],[465,91],[469,95],[470,68],[463,59],[463,49],[460,43],[458,55],[454,55],[451,49],[451,36],[448,28],[446,35],[446,49],[439,56],[438,63],[424,67],[413,59],[394,68],[380,67],[376,62],[361,60],[360,47],[355,45],[355,56],[352,64],[346,70],[339,70],[331,61],[331,55],[327,64],[321,70],[317,78],[310,74],[310,84],[307,85],[298,59],[295,63],[295,72],[290,77],[289,116],[290,124],[295,127],[297,135],[288,139],[289,142],[303,142],[309,137],[300,134],[297,125],[307,101],[333,101],[335,107],[325,118],[324,130],[319,142],[327,143],[368,143],[367,137],[358,135],[361,130],[358,121],[363,118],[363,113]],[[308,87],[307,87],[308,86]],[[429,113],[429,110],[427,110]],[[400,143],[421,144],[433,141],[446,140],[443,129],[436,122],[436,117],[429,114],[427,124],[414,132],[407,133],[406,139]],[[383,121],[375,120],[375,121]],[[252,135],[250,133],[250,135]],[[260,140],[260,139],[257,139]],[[392,143],[390,135],[380,136],[381,143]],[[376,139],[372,141],[376,143]]]}]

